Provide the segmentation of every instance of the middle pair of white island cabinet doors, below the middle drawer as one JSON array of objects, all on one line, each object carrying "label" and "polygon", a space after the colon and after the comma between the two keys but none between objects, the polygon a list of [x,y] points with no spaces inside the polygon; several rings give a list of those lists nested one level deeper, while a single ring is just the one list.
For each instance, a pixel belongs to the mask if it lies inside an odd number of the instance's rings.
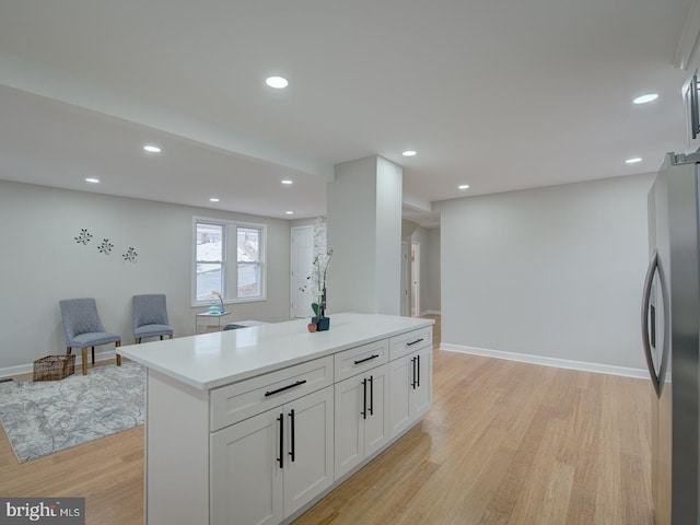
[{"label": "middle pair of white island cabinet doors, below the middle drawer", "polygon": [[389,441],[388,365],[336,383],[336,479]]}]

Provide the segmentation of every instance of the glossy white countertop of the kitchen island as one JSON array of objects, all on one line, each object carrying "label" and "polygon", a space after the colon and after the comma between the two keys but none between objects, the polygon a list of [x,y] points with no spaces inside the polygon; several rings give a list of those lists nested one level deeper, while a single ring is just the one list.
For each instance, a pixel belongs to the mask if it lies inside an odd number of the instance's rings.
[{"label": "glossy white countertop of the kitchen island", "polygon": [[308,319],[120,347],[118,353],[202,390],[434,324],[432,319],[335,314],[328,331]]}]

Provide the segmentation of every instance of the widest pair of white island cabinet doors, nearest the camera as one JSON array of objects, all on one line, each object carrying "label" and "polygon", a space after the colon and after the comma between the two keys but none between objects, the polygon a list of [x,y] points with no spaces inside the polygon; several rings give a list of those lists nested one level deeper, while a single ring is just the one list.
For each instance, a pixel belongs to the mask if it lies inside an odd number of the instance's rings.
[{"label": "widest pair of white island cabinet doors, nearest the camera", "polygon": [[214,432],[211,523],[276,524],[334,482],[332,387]]}]

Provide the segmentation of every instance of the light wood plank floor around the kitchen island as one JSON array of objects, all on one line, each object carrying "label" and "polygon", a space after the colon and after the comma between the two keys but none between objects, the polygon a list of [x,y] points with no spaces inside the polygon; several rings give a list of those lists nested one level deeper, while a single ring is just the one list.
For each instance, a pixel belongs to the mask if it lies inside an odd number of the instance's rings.
[{"label": "light wood plank floor around the kitchen island", "polygon": [[[651,525],[650,399],[641,380],[435,350],[423,422],[294,523]],[[141,524],[143,428],[24,464],[0,431],[0,494]]]}]

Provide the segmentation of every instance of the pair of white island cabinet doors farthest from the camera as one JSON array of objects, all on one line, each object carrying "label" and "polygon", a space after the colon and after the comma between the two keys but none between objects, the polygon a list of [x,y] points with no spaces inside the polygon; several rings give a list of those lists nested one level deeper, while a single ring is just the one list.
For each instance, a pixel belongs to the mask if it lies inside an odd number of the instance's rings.
[{"label": "pair of white island cabinet doors farthest from the camera", "polygon": [[389,439],[401,434],[432,406],[431,347],[389,362]]}]

